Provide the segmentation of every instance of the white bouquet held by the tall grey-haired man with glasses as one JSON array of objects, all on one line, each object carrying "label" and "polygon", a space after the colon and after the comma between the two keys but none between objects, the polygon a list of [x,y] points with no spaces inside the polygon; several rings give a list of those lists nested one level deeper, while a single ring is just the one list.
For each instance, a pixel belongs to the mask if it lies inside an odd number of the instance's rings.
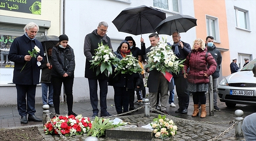
[{"label": "white bouquet held by the tall grey-haired man with glasses", "polygon": [[93,56],[93,60],[90,60],[91,62],[91,68],[96,69],[96,76],[100,74],[100,72],[104,72],[106,76],[108,76],[108,71],[110,74],[112,74],[112,67],[111,64],[115,65],[118,61],[120,61],[119,58],[116,58],[115,54],[113,54],[112,50],[109,49],[108,45],[103,45],[98,43],[98,48],[95,49],[95,56]]}]

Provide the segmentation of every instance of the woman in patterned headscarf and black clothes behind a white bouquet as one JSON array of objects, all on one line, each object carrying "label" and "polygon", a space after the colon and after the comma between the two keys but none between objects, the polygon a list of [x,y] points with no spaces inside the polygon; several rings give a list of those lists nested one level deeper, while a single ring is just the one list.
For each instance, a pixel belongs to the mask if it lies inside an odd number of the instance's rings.
[{"label": "woman in patterned headscarf and black clothes behind a white bouquet", "polygon": [[[117,51],[114,54],[122,60],[126,55],[130,55],[130,45],[127,41],[121,42]],[[114,70],[115,68],[113,68]],[[113,73],[115,75],[115,73]],[[116,78],[115,78],[116,77]],[[139,77],[139,74],[117,74],[113,79],[109,79],[108,85],[114,88],[114,101],[117,114],[122,114],[122,108],[124,112],[128,112],[129,106],[129,92],[134,90],[134,79]],[[117,79],[118,78],[118,79]],[[115,80],[117,79],[117,80]],[[115,80],[115,81],[113,81]]]}]

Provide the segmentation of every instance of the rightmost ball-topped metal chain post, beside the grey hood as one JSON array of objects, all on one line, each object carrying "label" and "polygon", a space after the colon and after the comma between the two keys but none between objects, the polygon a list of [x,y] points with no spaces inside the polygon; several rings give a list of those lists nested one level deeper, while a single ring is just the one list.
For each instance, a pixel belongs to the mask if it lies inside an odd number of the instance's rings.
[{"label": "rightmost ball-topped metal chain post, beside the grey hood", "polygon": [[243,137],[243,132],[242,132],[243,111],[242,110],[236,110],[235,115],[236,115],[235,121],[237,122],[236,137]]}]

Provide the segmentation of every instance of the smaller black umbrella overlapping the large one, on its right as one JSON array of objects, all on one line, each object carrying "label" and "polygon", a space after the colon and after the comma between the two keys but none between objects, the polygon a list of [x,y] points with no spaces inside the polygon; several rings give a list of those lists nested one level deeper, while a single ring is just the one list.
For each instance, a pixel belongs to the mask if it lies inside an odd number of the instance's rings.
[{"label": "smaller black umbrella overlapping the large one, on its right", "polygon": [[168,16],[156,27],[158,34],[172,35],[175,31],[179,33],[187,32],[192,27],[197,26],[197,19],[192,16],[176,14]]}]

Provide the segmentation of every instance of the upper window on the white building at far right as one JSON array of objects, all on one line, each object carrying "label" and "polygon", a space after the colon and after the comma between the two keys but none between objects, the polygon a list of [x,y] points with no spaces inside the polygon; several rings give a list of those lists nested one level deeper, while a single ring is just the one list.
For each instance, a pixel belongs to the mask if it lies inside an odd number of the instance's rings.
[{"label": "upper window on the white building at far right", "polygon": [[236,13],[236,27],[248,30],[247,12],[245,10],[235,8]]}]

